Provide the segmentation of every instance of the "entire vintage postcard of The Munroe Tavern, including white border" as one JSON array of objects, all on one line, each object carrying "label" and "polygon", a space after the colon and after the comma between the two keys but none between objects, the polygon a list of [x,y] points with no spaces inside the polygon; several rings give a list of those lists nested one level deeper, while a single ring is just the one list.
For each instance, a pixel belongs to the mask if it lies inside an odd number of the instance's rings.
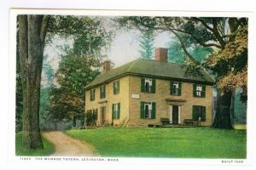
[{"label": "entire vintage postcard of The Munroe Tavern, including white border", "polygon": [[12,9],[12,159],[250,165],[250,17]]}]

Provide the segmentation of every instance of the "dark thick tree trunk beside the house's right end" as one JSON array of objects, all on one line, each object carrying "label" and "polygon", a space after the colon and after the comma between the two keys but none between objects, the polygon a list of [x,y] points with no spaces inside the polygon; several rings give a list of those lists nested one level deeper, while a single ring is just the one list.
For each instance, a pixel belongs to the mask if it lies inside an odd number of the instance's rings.
[{"label": "dark thick tree trunk beside the house's right end", "polygon": [[225,129],[233,128],[230,117],[231,99],[231,91],[218,89],[217,111],[214,117],[214,122],[212,123],[212,127]]}]

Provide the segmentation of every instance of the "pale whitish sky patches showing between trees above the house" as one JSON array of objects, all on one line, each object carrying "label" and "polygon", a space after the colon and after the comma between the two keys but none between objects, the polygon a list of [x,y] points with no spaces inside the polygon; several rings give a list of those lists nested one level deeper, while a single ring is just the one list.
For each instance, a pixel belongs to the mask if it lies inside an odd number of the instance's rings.
[{"label": "pale whitish sky patches showing between trees above the house", "polygon": [[[104,27],[106,30],[115,30],[115,36],[111,42],[109,48],[104,53],[108,56],[107,59],[113,61],[114,67],[124,65],[134,59],[140,57],[139,54],[139,36],[140,32],[137,30],[117,30],[113,28],[115,25],[111,23],[108,17],[106,17]],[[161,32],[154,38],[154,48],[167,48],[167,43],[172,40],[172,35],[168,32]],[[63,39],[61,37],[55,37],[52,43],[45,46],[44,56],[48,56],[50,65],[56,71],[60,56],[62,54],[61,47],[65,45],[72,46],[73,40]],[[44,72],[43,72],[44,74]],[[43,75],[44,76],[44,75]]]}]

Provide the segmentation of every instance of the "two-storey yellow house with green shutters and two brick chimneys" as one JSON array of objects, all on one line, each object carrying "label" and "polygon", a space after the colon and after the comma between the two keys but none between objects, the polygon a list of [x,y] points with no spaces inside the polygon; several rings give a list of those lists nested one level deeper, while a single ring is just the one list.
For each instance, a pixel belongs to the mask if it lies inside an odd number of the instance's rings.
[{"label": "two-storey yellow house with green shutters and two brick chimneys", "polygon": [[168,62],[166,48],[112,70],[107,60],[103,70],[85,87],[85,114],[96,114],[98,126],[212,124],[214,80],[201,68]]}]

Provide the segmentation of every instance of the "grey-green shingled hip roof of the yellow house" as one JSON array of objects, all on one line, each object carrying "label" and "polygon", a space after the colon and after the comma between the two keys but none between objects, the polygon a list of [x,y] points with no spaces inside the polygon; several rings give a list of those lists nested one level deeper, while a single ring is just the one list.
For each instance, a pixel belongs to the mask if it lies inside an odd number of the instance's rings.
[{"label": "grey-green shingled hip roof of the yellow house", "polygon": [[174,64],[170,62],[161,62],[153,59],[136,59],[107,71],[96,77],[85,89],[93,88],[102,83],[113,81],[125,75],[135,75],[141,77],[156,77],[170,79],[181,82],[202,82],[205,84],[214,84],[214,80],[203,69],[197,71],[189,69],[189,65]]}]

